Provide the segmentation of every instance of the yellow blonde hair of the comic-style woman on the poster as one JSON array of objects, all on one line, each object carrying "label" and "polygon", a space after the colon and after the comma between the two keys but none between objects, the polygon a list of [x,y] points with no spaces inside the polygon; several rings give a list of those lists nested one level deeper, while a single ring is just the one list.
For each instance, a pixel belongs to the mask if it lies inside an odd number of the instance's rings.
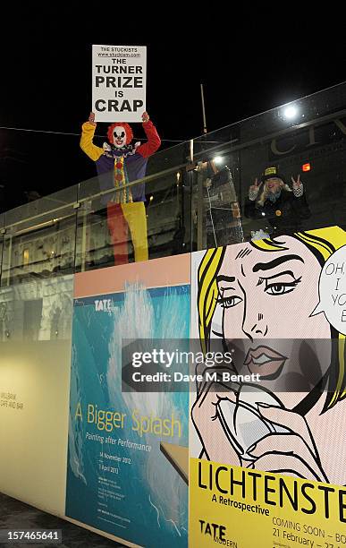
[{"label": "yellow blonde hair of the comic-style woman on the poster", "polygon": [[[346,233],[340,227],[297,232],[291,236],[300,240],[316,256],[321,265],[321,270],[325,261],[346,243]],[[280,237],[278,239],[257,240],[249,242],[249,244],[255,249],[267,253],[284,252],[288,249],[284,242],[280,241]],[[210,346],[211,322],[218,296],[216,276],[224,260],[224,253],[225,247],[208,249],[198,268],[198,329],[200,344],[204,353],[208,351]],[[336,344],[332,344],[331,364],[326,373],[328,393],[323,412],[346,398],[345,335],[331,325],[331,338]]]}]

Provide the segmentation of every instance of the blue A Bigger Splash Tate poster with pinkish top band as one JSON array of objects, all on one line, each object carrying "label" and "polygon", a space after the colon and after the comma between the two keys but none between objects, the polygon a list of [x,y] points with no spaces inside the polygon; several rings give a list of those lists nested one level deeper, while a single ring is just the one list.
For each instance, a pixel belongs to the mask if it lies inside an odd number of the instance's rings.
[{"label": "blue A Bigger Splash Tate poster with pinkish top band", "polygon": [[124,338],[190,338],[190,254],[76,275],[66,488],[66,516],[185,548],[189,394],[122,391]]}]

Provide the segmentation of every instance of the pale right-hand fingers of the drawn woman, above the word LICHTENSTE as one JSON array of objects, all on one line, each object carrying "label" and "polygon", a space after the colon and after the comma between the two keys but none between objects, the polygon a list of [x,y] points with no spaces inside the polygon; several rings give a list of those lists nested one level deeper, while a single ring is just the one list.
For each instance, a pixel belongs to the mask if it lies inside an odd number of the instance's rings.
[{"label": "pale right-hand fingers of the drawn woman, above the word LICHTENSTE", "polygon": [[248,454],[255,460],[249,467],[327,482],[305,418],[282,407],[266,404],[258,404],[257,407],[266,421],[278,424],[288,432],[269,433],[250,447]]}]

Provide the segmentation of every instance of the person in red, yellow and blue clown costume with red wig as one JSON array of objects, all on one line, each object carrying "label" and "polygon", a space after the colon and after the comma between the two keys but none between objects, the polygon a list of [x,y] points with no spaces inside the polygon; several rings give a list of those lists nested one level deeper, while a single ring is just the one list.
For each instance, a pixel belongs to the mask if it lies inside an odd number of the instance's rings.
[{"label": "person in red, yellow and blue clown costume with red wig", "polygon": [[105,142],[103,148],[93,143],[97,127],[94,113],[91,112],[88,122],[82,125],[80,148],[95,161],[101,190],[114,188],[114,193],[106,193],[103,201],[106,204],[107,224],[114,245],[115,265],[129,261],[129,229],[135,261],[148,260],[145,184],[125,186],[146,175],[148,158],[161,144],[156,127],[149,120],[147,112],[143,113],[142,121],[147,142],[131,145],[131,126],[117,122],[108,127],[109,143]]}]

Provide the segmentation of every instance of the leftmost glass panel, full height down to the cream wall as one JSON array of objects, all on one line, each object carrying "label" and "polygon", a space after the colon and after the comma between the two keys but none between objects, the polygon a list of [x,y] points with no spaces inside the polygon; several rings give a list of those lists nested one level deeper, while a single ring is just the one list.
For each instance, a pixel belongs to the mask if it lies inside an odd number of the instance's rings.
[{"label": "leftmost glass panel, full height down to the cream wall", "polygon": [[76,200],[74,186],[0,218],[0,341],[71,338]]}]

